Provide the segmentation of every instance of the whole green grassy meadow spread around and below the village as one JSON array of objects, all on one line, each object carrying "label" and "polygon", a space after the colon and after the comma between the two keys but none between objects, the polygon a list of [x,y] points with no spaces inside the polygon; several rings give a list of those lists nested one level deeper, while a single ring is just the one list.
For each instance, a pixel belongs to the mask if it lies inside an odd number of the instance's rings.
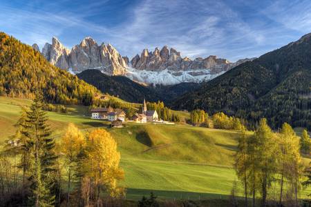
[{"label": "whole green grassy meadow spread around and below the village", "polygon": [[[20,106],[30,103],[0,97],[0,141],[14,135]],[[180,113],[187,116],[187,112]],[[48,117],[57,139],[69,122],[84,131],[104,127],[111,132],[121,152],[120,165],[125,171],[121,184],[129,199],[140,199],[151,191],[169,199],[219,199],[230,194],[237,179],[232,164],[239,134],[232,130],[133,123],[112,129],[109,123],[91,120],[84,106],[68,106],[66,115],[48,112]],[[304,161],[307,164],[310,159]],[[301,197],[309,193],[303,190]]]}]

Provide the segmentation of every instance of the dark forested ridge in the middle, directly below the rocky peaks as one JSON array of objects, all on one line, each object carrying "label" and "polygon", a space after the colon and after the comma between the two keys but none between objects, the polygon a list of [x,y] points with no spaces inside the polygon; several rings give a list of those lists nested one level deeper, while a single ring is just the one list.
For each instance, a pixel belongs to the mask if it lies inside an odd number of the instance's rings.
[{"label": "dark forested ridge in the middle, directly below the rocky peaks", "polygon": [[179,83],[173,86],[144,86],[123,76],[109,76],[100,70],[84,70],[77,74],[79,79],[92,84],[102,92],[120,97],[126,101],[140,103],[147,101],[164,101],[169,103],[172,99],[194,90],[198,83]]}]

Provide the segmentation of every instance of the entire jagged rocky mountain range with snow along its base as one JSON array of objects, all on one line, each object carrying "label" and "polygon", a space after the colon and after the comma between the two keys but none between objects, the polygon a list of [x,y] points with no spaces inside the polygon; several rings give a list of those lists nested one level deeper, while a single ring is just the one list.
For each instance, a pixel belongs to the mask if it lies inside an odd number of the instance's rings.
[{"label": "entire jagged rocky mountain range with snow along its base", "polygon": [[[39,51],[37,44],[33,44],[32,48]],[[153,52],[144,49],[141,55],[136,55],[129,61],[129,57],[122,57],[111,44],[98,45],[91,37],[86,37],[71,50],[53,37],[52,44],[46,43],[41,54],[54,66],[75,74],[87,69],[97,69],[106,75],[122,75],[154,86],[209,81],[245,61],[253,60],[241,59],[230,63],[227,59],[218,59],[216,56],[191,60],[181,57],[180,52],[174,48],[164,46]]]}]

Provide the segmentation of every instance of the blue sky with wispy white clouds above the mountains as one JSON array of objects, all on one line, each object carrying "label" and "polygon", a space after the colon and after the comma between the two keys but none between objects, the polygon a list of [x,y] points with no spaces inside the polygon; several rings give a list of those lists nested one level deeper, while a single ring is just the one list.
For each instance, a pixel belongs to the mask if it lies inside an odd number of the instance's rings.
[{"label": "blue sky with wispy white clouds above the mountains", "polygon": [[187,57],[258,57],[311,32],[311,1],[0,0],[0,30],[24,43],[84,37],[130,58],[167,45]]}]

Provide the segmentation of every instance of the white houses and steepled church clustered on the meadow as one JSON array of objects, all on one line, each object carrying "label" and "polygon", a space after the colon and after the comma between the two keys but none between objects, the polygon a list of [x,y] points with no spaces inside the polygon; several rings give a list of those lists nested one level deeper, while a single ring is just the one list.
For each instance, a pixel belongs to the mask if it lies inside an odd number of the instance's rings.
[{"label": "white houses and steepled church clustered on the meadow", "polygon": [[[91,109],[92,119],[102,119],[111,121],[111,126],[122,126],[122,122],[126,119],[124,110],[120,108],[93,108]],[[159,121],[158,113],[156,110],[147,110],[147,104],[144,100],[142,106],[142,113],[135,113],[133,117],[129,117],[132,121],[138,123],[147,123],[153,121]]]}]

